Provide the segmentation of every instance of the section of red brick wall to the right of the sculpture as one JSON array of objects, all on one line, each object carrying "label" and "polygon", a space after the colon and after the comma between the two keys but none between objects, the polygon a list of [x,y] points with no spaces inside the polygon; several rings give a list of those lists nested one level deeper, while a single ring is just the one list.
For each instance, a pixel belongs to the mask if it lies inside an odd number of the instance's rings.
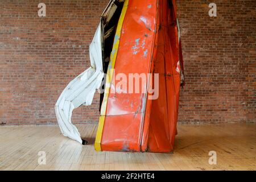
[{"label": "section of red brick wall to the right of the sculpture", "polygon": [[180,0],[177,8],[187,82],[179,121],[255,121],[256,1]]}]

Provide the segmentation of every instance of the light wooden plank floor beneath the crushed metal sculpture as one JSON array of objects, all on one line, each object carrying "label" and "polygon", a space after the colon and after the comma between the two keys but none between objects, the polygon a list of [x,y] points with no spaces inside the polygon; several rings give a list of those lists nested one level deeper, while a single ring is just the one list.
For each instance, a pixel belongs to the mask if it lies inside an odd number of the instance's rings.
[{"label": "light wooden plank floor beneath the crushed metal sculpture", "polygon": [[[79,125],[86,146],[58,126],[0,127],[1,170],[256,170],[255,123],[179,125],[174,154],[96,152],[97,125]],[[38,152],[46,164],[38,164]],[[217,164],[209,164],[209,151]]]}]

